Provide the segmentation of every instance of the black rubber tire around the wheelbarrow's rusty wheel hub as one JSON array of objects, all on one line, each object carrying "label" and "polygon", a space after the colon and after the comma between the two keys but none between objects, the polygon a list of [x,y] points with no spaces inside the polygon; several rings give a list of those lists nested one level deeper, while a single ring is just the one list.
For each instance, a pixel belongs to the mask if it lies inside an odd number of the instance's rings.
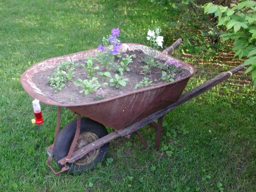
[{"label": "black rubber tire around the wheelbarrow's rusty wheel hub", "polygon": [[[67,156],[67,153],[69,152],[69,148],[72,144],[73,137],[75,136],[76,131],[76,120],[73,120],[72,122],[68,123],[66,126],[64,126],[63,129],[59,132],[57,135],[56,140],[54,141],[54,158],[58,161],[65,156]],[[92,119],[88,118],[81,118],[81,128],[80,128],[80,134],[83,132],[93,132],[94,134],[98,135],[99,138],[104,137],[108,134],[107,129],[104,125],[101,123],[95,122]],[[92,169],[97,163],[103,161],[105,157],[107,156],[108,152],[108,146],[109,143],[104,144],[99,149],[99,154],[96,156],[96,158],[92,161],[92,163],[89,163],[84,166],[77,165],[75,163],[68,163],[70,169],[68,170],[69,173],[81,173],[84,170]],[[63,167],[61,164],[58,164],[60,167]]]}]

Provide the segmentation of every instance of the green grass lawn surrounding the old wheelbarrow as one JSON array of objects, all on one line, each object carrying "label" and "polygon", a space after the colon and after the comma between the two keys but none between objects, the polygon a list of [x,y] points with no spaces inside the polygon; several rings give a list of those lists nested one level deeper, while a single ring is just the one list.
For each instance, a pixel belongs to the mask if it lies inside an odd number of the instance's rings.
[{"label": "green grass lawn surrounding the old wheelbarrow", "polygon": [[[55,176],[45,165],[57,107],[42,104],[45,123],[31,124],[32,98],[20,85],[22,73],[47,58],[96,48],[116,27],[122,42],[146,44],[148,28],[167,29],[177,14],[148,0],[2,0],[0,19],[0,191],[219,191],[218,183],[224,191],[256,191],[256,98],[245,76],[232,76],[167,114],[160,150],[153,147],[154,130],[145,127],[149,149],[135,134],[117,138],[108,166]],[[181,48],[175,55],[181,58]],[[184,59],[204,68],[187,90],[238,62]],[[216,69],[216,62],[225,67]],[[72,119],[63,110],[61,126]]]}]

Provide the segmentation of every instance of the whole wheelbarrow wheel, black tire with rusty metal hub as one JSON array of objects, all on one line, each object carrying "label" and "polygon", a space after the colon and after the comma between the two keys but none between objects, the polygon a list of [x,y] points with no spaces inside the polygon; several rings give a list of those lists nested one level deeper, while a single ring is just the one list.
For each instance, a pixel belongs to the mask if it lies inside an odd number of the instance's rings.
[{"label": "whole wheelbarrow wheel, black tire with rusty metal hub", "polygon": [[[54,158],[58,161],[69,153],[69,148],[72,144],[73,137],[76,131],[76,120],[68,123],[61,129],[60,133],[54,141]],[[101,123],[95,122],[94,120],[88,118],[81,118],[81,128],[78,141],[75,146],[75,150],[81,149],[89,143],[97,140],[98,138],[107,135],[107,129]],[[99,149],[95,149],[87,153],[83,158],[78,159],[74,163],[69,163],[69,173],[81,173],[84,170],[92,169],[97,163],[105,159],[108,152],[109,143],[104,144],[104,146]],[[63,167],[61,164],[58,164]]]}]

